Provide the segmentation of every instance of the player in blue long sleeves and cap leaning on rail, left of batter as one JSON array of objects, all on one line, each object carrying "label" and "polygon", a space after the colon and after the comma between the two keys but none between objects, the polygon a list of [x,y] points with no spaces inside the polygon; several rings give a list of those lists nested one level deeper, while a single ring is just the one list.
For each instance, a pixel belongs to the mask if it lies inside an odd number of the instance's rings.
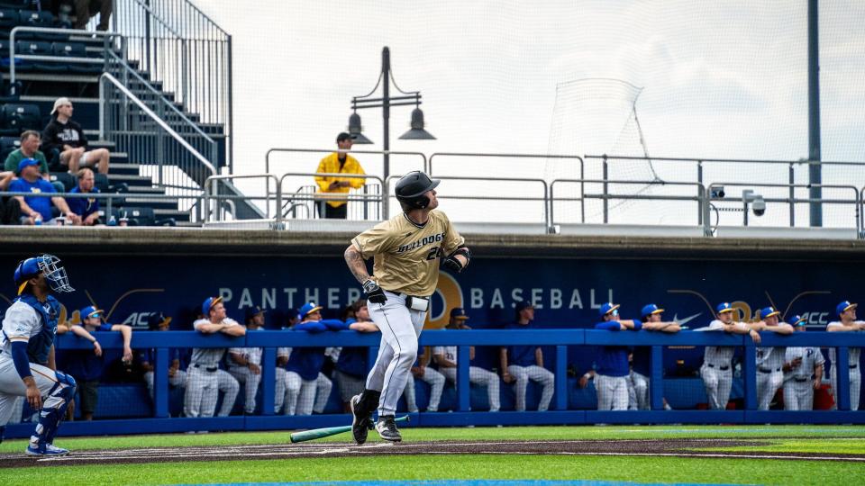
[{"label": "player in blue long sleeves and cap leaning on rail, left of batter", "polygon": [[[298,311],[300,323],[292,330],[319,333],[349,329],[338,319],[322,319],[322,308],[306,302]],[[323,413],[333,383],[322,373],[323,347],[298,347],[291,351],[286,364],[286,415]]]}]

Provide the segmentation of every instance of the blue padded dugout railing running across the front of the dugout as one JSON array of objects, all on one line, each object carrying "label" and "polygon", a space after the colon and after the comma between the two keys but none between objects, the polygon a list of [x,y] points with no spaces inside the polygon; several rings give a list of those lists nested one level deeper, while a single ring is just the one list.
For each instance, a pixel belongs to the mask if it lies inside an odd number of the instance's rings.
[{"label": "blue padded dugout railing running across the front of the dugout", "polygon": [[[865,347],[865,333],[806,332],[790,336],[761,333],[761,347],[833,347],[840,363],[847,363],[850,347]],[[104,349],[123,347],[120,333],[104,333],[99,336]],[[139,433],[184,432],[190,430],[264,430],[318,428],[345,425],[347,414],[311,416],[274,415],[273,410],[275,368],[278,347],[369,347],[369,363],[378,353],[380,336],[360,334],[353,331],[326,332],[309,335],[286,331],[257,331],[241,338],[229,338],[222,334],[201,335],[193,331],[136,332],[132,338],[133,349],[155,349],[154,416],[149,419],[106,419],[92,422],[68,422],[60,428],[60,434],[112,435]],[[756,410],[756,357],[757,347],[747,335],[720,332],[694,332],[684,330],[676,334],[594,329],[533,329],[521,330],[430,330],[421,336],[421,346],[457,346],[458,382],[457,410],[450,413],[434,412],[412,414],[412,425],[421,427],[447,427],[469,425],[592,425],[598,423],[688,423],[688,424],[751,424],[751,423],[822,423],[863,424],[865,412],[850,410],[850,373],[859,373],[859,367],[851,370],[840,366],[838,373],[838,410],[786,411]],[[469,347],[501,347],[508,345],[537,345],[553,347],[553,356],[548,360],[548,369],[555,375],[555,393],[551,410],[534,411],[469,411]],[[59,350],[92,350],[92,344],[72,335],[59,336]],[[651,410],[597,411],[569,410],[568,408],[568,350],[573,347],[651,347]],[[665,347],[681,346],[725,346],[742,348],[742,380],[744,387],[743,410],[662,410],[664,370],[662,367]],[[232,416],[223,418],[169,418],[168,417],[168,357],[174,347],[263,347],[262,358],[262,415]],[[828,372],[824,378],[828,381]],[[27,437],[32,424],[10,425],[6,437]]]}]

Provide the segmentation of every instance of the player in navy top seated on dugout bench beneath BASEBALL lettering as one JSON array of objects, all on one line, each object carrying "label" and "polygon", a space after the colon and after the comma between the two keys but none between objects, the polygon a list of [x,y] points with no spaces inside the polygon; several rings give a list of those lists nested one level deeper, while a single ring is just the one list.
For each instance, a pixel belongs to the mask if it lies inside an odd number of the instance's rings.
[{"label": "player in navy top seated on dugout bench beneath BASEBALL lettering", "polygon": [[[531,329],[534,320],[534,306],[526,301],[517,302],[516,322],[508,326],[508,329]],[[516,395],[516,411],[525,410],[525,392],[529,380],[540,383],[543,387],[541,401],[538,410],[543,411],[550,408],[552,400],[552,387],[555,383],[553,374],[543,367],[543,351],[538,346],[509,346],[503,347],[499,353],[502,365],[502,381],[505,383],[515,382],[514,393]]]}]

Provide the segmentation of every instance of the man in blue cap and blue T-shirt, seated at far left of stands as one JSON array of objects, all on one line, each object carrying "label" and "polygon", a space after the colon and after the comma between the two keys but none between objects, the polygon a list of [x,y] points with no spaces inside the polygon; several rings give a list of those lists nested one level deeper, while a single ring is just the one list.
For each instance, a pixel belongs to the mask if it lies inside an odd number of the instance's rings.
[{"label": "man in blue cap and blue T-shirt, seated at far left of stands", "polygon": [[[25,158],[18,164],[21,177],[9,184],[9,191],[13,193],[57,193],[54,186],[39,175],[39,162],[33,158]],[[21,224],[57,224],[51,211],[51,203],[59,209],[60,213],[75,225],[81,224],[81,218],[71,210],[66,200],[60,196],[15,196],[21,206]]]}]

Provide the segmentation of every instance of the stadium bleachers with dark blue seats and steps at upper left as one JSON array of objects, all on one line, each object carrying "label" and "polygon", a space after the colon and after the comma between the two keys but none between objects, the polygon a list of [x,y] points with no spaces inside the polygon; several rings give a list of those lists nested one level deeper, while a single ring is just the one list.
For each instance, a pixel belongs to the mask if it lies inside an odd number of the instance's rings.
[{"label": "stadium bleachers with dark blue seats and steps at upper left", "polygon": [[[9,84],[10,37],[15,27],[65,28],[50,12],[37,11],[32,2],[0,2],[0,155],[5,157],[17,148],[17,139],[23,130],[41,131],[50,121],[52,104],[59,96],[68,96],[75,105],[73,118],[85,127],[91,148],[108,148],[111,151],[111,168],[107,180],[97,178],[97,186],[103,193],[130,193],[144,197],[123,197],[113,201],[113,209],[138,211],[140,215],[131,219],[131,224],[156,225],[197,224],[190,223],[188,211],[180,211],[178,200],[167,194],[166,188],[155,183],[153,178],[142,175],[139,161],[130,160],[122,147],[112,140],[98,139],[99,132],[99,75],[105,67],[105,42],[82,35],[80,31],[45,33],[16,31],[15,85]],[[120,54],[118,51],[115,54]],[[19,56],[40,56],[39,60],[28,60]],[[93,59],[92,62],[82,59]],[[131,67],[138,63],[130,61]],[[138,71],[141,77],[158,90],[161,84],[151,80],[150,73]],[[138,83],[137,81],[135,83]],[[141,86],[130,83],[134,90]],[[173,94],[164,93],[168,99]],[[180,109],[182,104],[178,103]],[[196,121],[196,113],[188,113]],[[208,126],[209,131],[219,127]],[[146,135],[142,135],[146,137]],[[46,157],[51,157],[46,154]],[[170,166],[171,161],[164,163]],[[61,180],[67,189],[75,185],[74,175],[52,174]],[[158,199],[152,199],[156,196]],[[148,199],[150,197],[150,199]],[[134,221],[134,223],[132,222]]]}]

